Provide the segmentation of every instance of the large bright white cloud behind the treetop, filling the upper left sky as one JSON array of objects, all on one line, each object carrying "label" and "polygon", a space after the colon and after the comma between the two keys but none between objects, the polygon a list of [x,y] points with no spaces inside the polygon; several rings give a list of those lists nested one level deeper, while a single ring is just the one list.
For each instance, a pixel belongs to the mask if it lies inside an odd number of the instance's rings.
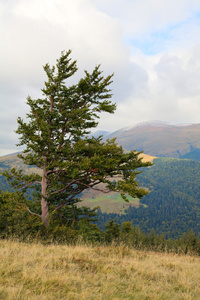
[{"label": "large bright white cloud behind the treetop, filling the upper left sky", "polygon": [[115,72],[113,86],[118,99],[123,95],[123,87],[117,87],[121,82],[128,90],[128,50],[121,25],[98,11],[92,1],[0,1],[0,7],[0,101],[1,113],[7,116],[1,118],[1,128],[7,132],[1,140],[7,139],[11,145],[14,136],[17,142],[13,130],[17,117],[24,117],[27,111],[26,97],[40,95],[45,79],[42,65],[55,64],[62,50],[72,49],[79,75],[99,63],[105,75]]}]

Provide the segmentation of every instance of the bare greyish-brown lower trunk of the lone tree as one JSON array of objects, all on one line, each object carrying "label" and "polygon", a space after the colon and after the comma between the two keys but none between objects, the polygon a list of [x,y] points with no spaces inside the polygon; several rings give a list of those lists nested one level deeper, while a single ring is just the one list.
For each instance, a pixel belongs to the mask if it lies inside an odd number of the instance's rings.
[{"label": "bare greyish-brown lower trunk of the lone tree", "polygon": [[46,169],[43,169],[43,174],[42,174],[42,199],[41,199],[41,208],[42,208],[42,222],[44,223],[45,226],[49,224],[49,206],[48,202],[46,200],[47,196],[47,177],[46,177]]}]

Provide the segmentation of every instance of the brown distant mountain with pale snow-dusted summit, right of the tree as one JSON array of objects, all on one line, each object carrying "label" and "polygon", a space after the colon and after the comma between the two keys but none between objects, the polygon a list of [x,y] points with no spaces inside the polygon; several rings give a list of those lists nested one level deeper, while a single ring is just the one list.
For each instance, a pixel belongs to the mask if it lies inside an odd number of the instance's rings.
[{"label": "brown distant mountain with pale snow-dusted summit, right of the tree", "polygon": [[200,124],[141,123],[108,135],[126,150],[144,151],[157,157],[200,160]]}]

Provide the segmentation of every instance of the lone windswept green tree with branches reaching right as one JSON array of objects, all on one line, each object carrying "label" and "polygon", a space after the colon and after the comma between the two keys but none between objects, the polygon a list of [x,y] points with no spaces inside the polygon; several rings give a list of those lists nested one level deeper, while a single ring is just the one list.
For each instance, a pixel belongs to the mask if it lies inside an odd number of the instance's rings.
[{"label": "lone windswept green tree with branches reaching right", "polygon": [[48,80],[42,89],[43,97],[34,100],[28,96],[29,122],[18,118],[18,145],[26,146],[19,157],[40,172],[4,172],[15,189],[35,190],[33,202],[40,201],[45,226],[62,208],[76,207],[79,195],[88,188],[104,193],[119,191],[125,200],[126,193],[139,198],[147,194],[135,178],[137,168],[150,163],[143,163],[136,151],[124,153],[115,139],[103,142],[102,137],[88,135],[97,126],[99,113],[113,113],[116,109],[108,89],[113,75],[104,78],[97,66],[91,74],[85,71],[77,84],[67,85],[78,70],[70,54],[71,51],[62,52],[56,66],[44,66]]}]

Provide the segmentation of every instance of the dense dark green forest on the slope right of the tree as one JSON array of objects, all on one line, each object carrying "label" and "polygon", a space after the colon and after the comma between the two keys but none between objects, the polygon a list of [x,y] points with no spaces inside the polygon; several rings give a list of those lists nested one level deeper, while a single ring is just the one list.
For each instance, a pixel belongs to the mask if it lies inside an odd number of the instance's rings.
[{"label": "dense dark green forest on the slope right of the tree", "polygon": [[126,214],[107,214],[99,210],[98,226],[109,220],[133,226],[150,233],[152,228],[166,238],[179,238],[184,232],[200,233],[200,162],[188,159],[158,158],[155,165],[138,175],[141,185],[150,193],[139,208],[129,207]]}]

